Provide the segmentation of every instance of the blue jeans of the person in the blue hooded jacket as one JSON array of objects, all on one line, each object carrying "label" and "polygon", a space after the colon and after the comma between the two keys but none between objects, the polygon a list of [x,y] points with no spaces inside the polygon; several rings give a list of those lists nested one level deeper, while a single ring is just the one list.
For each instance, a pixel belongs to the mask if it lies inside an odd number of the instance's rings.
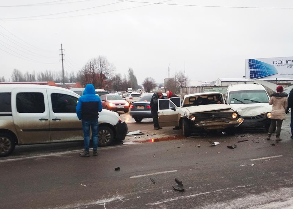
[{"label": "blue jeans of the person in the blue hooded jacket", "polygon": [[99,122],[98,119],[95,120],[81,120],[83,136],[85,141],[85,151],[89,151],[89,130],[92,127],[92,146],[93,150],[98,149],[98,130]]}]

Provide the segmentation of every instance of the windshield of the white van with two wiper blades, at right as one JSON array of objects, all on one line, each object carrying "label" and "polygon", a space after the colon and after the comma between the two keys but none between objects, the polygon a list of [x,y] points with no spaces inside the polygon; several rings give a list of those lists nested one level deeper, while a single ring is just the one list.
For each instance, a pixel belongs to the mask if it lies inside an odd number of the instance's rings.
[{"label": "windshield of the white van with two wiper blades, at right", "polygon": [[266,90],[242,90],[231,91],[229,94],[229,104],[252,104],[268,103],[269,97]]}]

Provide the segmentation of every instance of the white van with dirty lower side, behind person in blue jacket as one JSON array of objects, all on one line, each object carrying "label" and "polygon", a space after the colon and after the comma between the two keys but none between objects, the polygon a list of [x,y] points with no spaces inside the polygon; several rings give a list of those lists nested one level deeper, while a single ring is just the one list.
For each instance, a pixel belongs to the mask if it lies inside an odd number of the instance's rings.
[{"label": "white van with dirty lower side, behind person in blue jacket", "polygon": [[[79,95],[56,86],[0,85],[0,156],[15,145],[83,140],[76,115]],[[99,146],[124,140],[127,124],[116,112],[99,112]]]}]

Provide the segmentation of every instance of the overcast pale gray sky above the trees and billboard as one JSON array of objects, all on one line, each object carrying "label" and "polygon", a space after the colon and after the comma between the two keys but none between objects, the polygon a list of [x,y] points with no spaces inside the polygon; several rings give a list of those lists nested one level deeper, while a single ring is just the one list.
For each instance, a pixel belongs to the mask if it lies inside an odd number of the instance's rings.
[{"label": "overcast pale gray sky above the trees and billboard", "polygon": [[[171,76],[183,70],[185,63],[190,79],[205,82],[244,76],[248,58],[293,55],[293,9],[147,5],[117,0],[55,0],[47,5],[3,7],[53,1],[0,0],[1,76],[10,78],[14,68],[23,72],[61,71],[60,43],[65,49],[66,71],[78,71],[90,58],[104,55],[117,73],[125,74],[128,67],[133,68],[139,84],[147,76],[163,82],[168,77],[169,63]],[[293,2],[288,0],[165,3],[293,8]],[[97,7],[106,4],[111,5]],[[96,8],[85,9],[90,7]],[[126,9],[131,7],[137,8]],[[68,12],[79,9],[85,10]],[[124,10],[110,12],[120,9]],[[63,14],[47,15],[52,13]],[[88,15],[91,13],[99,14]],[[22,18],[27,16],[38,17]],[[64,16],[75,17],[60,18]],[[38,18],[42,19],[35,20]]]}]

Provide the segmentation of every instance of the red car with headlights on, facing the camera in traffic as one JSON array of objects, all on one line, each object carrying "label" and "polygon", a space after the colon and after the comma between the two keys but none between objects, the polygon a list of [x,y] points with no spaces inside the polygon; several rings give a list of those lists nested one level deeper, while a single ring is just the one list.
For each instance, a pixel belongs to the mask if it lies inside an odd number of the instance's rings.
[{"label": "red car with headlights on, facing the camera in traffic", "polygon": [[125,113],[129,110],[129,103],[117,94],[104,94],[100,96],[100,99],[104,109]]}]

